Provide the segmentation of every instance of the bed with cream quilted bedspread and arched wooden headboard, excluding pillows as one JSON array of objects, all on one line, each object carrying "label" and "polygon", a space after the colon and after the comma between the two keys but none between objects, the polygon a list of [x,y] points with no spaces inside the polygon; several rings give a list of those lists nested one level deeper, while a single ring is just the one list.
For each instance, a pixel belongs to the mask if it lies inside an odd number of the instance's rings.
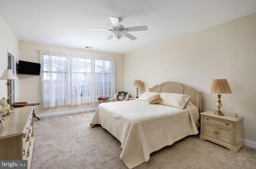
[{"label": "bed with cream quilted bedspread and arched wooden headboard, excluding pillows", "polygon": [[120,159],[132,169],[150,159],[150,153],[182,138],[198,134],[202,92],[175,82],[149,88],[191,96],[186,108],[148,104],[142,100],[100,104],[89,126],[100,124],[121,143]]}]

